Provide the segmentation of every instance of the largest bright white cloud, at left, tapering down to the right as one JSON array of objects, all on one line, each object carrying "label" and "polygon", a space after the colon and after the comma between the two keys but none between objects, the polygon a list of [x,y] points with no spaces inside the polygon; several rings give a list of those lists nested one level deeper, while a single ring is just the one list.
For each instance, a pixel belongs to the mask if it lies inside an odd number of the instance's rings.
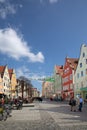
[{"label": "largest bright white cloud, at left, tapering down to the right", "polygon": [[12,28],[0,29],[0,52],[16,60],[27,57],[31,62],[44,62],[42,52],[32,53],[22,34]]}]

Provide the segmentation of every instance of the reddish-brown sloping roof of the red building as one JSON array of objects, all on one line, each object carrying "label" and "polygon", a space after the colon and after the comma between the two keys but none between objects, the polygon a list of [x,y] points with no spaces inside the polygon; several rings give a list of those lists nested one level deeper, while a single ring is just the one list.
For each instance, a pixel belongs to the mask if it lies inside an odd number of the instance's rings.
[{"label": "reddish-brown sloping roof of the red building", "polygon": [[78,61],[78,58],[66,58],[66,62],[68,62],[70,64],[70,67],[74,70],[77,68]]}]

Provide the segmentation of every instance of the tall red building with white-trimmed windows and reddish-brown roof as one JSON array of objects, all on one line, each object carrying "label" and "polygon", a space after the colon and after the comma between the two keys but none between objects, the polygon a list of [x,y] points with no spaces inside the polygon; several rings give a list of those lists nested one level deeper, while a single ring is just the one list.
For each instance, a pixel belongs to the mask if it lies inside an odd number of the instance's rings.
[{"label": "tall red building with white-trimmed windows and reddish-brown roof", "polygon": [[65,58],[65,65],[62,75],[62,98],[69,100],[74,97],[74,74],[78,65],[77,58]]}]

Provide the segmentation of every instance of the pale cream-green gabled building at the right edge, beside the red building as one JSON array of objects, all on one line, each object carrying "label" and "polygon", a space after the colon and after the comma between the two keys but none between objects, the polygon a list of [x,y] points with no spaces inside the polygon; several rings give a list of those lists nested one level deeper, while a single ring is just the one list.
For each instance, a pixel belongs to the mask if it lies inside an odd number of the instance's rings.
[{"label": "pale cream-green gabled building at the right edge, beside the red building", "polygon": [[87,99],[87,46],[81,45],[80,57],[75,73],[75,97],[80,94]]}]

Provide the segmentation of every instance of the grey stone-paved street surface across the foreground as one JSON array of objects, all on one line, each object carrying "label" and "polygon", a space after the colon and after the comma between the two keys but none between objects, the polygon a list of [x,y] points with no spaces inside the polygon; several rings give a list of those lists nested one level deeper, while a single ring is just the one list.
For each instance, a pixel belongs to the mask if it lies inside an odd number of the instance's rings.
[{"label": "grey stone-paved street surface across the foreground", "polygon": [[87,104],[82,112],[71,112],[68,103],[43,101],[24,104],[11,117],[0,121],[0,130],[87,130]]}]

